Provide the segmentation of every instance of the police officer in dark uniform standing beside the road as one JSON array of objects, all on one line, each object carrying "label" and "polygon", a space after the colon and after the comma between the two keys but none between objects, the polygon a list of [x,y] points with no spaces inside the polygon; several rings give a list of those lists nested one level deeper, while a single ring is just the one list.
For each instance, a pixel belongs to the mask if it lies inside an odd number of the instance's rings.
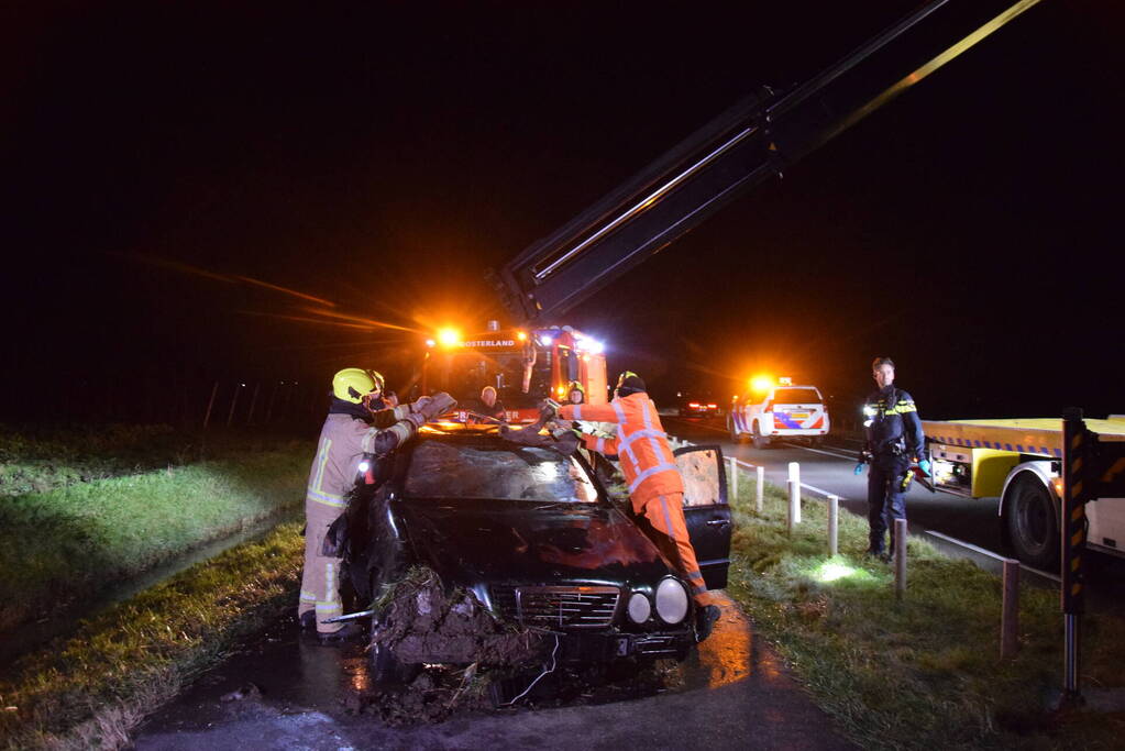
[{"label": "police officer in dark uniform standing beside the road", "polygon": [[[910,471],[910,462],[917,461],[927,474],[929,462],[925,458],[926,437],[918,407],[909,393],[894,386],[894,363],[890,358],[875,358],[871,371],[879,389],[863,406],[863,458],[868,465],[867,555],[889,561],[894,551],[894,519],[907,517],[903,479]],[[883,546],[888,528],[890,552]]]}]

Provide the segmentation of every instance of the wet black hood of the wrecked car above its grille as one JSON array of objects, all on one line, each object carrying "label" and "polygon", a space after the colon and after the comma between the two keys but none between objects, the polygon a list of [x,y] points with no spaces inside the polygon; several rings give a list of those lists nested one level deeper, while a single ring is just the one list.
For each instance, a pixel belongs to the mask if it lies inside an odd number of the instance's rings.
[{"label": "wet black hood of the wrecked car above its grille", "polygon": [[414,552],[447,581],[630,582],[652,586],[669,569],[623,514],[602,505],[399,501]]}]

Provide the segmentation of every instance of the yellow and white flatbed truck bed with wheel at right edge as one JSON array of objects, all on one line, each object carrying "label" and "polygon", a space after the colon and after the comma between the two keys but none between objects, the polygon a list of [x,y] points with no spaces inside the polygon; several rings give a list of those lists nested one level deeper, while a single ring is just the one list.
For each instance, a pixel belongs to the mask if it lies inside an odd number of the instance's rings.
[{"label": "yellow and white flatbed truck bed with wheel at right edge", "polygon": [[[1088,419],[1100,441],[1125,441],[1125,416]],[[1019,560],[1055,570],[1061,552],[1062,420],[922,420],[934,486],[966,498],[999,498],[1005,539]],[[1125,557],[1125,504],[1087,505],[1087,546]],[[1116,500],[1116,499],[1114,499]]]}]

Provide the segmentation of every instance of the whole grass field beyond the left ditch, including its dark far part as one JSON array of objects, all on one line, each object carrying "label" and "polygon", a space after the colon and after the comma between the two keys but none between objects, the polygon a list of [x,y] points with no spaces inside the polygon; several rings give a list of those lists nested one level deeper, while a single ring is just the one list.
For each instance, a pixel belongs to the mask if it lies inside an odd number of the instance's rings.
[{"label": "whole grass field beyond the left ditch, including its dark far part", "polygon": [[[176,441],[191,463],[164,463]],[[302,503],[310,444],[200,445],[153,427],[109,431],[78,453],[52,434],[6,434],[0,453],[50,464],[33,485],[51,489],[0,495],[0,632]]]}]

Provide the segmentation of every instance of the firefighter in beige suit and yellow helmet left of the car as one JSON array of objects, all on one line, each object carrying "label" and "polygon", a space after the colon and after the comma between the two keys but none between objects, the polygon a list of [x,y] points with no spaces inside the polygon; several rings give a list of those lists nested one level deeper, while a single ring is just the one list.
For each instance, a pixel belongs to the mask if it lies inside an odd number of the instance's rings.
[{"label": "firefighter in beige suit and yellow helmet left of the car", "polygon": [[[308,474],[305,494],[305,569],[297,617],[303,628],[315,628],[322,642],[342,641],[360,633],[358,624],[323,623],[343,615],[340,599],[341,559],[325,555],[324,539],[344,510],[358,478],[378,471],[385,459],[425,422],[456,402],[447,393],[382,408],[382,376],[345,368],[332,378],[332,402]],[[367,465],[361,468],[366,462]]]}]

